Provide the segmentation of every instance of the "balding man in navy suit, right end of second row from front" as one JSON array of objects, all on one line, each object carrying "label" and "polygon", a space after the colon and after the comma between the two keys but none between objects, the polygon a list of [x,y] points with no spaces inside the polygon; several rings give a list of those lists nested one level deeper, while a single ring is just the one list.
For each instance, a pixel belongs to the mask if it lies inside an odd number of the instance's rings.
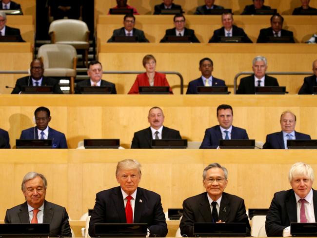
[{"label": "balding man in navy suit, right end of second row from front", "polygon": [[282,113],[280,124],[282,131],[267,135],[263,149],[286,149],[289,139],[311,139],[310,135],[295,131],[296,115],[291,111]]}]

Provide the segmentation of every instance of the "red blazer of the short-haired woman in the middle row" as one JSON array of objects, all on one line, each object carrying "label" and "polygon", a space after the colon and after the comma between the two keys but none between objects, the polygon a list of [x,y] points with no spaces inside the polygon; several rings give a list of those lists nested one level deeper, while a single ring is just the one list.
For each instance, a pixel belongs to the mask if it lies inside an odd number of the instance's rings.
[{"label": "red blazer of the short-haired woman in the middle row", "polygon": [[[139,74],[137,76],[137,79],[135,80],[128,94],[139,94],[139,86],[150,86],[149,78],[147,77],[146,73]],[[165,74],[161,74],[155,71],[154,86],[169,86],[170,87]],[[170,87],[170,94],[173,94],[171,87]]]}]

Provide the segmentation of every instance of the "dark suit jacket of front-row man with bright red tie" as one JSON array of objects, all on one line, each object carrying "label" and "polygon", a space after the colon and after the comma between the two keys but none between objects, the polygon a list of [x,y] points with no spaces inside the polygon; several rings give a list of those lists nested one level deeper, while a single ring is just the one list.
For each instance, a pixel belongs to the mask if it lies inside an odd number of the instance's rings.
[{"label": "dark suit jacket of front-row man with bright red tie", "polygon": [[[147,223],[150,237],[166,236],[167,224],[161,198],[157,193],[138,187],[133,222]],[[96,223],[126,223],[120,187],[97,193],[94,211],[89,222],[89,235],[91,237],[96,237]]]}]

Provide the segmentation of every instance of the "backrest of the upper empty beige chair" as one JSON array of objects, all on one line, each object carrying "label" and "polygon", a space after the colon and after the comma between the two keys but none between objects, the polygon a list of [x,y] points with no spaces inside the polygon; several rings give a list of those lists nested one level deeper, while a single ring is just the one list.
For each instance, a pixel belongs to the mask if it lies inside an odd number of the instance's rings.
[{"label": "backrest of the upper empty beige chair", "polygon": [[50,24],[48,33],[54,32],[57,41],[87,41],[88,26],[81,20],[61,19]]}]

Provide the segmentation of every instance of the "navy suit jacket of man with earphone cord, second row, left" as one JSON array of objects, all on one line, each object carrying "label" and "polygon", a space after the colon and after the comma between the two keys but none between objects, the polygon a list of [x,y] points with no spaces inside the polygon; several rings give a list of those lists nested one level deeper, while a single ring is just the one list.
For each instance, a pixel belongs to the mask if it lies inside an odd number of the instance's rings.
[{"label": "navy suit jacket of man with earphone cord, second row, left", "polygon": [[[37,127],[31,127],[21,132],[20,139],[39,139]],[[52,139],[53,149],[67,149],[67,142],[64,133],[48,127],[48,138]]]}]

